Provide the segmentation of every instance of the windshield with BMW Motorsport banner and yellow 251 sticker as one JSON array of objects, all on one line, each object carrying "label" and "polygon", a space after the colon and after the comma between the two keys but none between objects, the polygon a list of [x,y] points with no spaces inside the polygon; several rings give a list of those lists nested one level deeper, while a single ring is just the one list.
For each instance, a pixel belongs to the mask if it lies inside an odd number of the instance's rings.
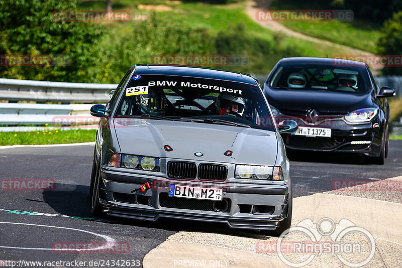
[{"label": "windshield with BMW Motorsport banner and yellow 251 sticker", "polygon": [[258,86],[218,79],[135,75],[122,92],[115,115],[275,131]]}]

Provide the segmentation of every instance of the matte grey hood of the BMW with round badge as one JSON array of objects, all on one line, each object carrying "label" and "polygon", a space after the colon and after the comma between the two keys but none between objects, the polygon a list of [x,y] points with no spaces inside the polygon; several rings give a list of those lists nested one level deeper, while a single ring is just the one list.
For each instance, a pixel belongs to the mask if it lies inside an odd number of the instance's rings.
[{"label": "matte grey hood of the BMW with round badge", "polygon": [[[277,155],[275,132],[219,124],[152,119],[115,120],[123,154],[197,161],[274,165]],[[166,152],[169,145],[173,151]],[[231,157],[225,156],[233,151]],[[202,157],[196,157],[201,152]]]}]

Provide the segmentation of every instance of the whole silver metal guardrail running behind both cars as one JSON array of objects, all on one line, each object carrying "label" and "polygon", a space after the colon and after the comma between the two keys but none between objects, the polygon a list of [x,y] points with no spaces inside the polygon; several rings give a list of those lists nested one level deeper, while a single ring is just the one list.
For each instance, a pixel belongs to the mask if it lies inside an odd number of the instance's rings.
[{"label": "whole silver metal guardrail running behind both cars", "polygon": [[[262,85],[267,75],[256,74]],[[375,77],[379,86],[387,85],[401,96],[402,76]],[[95,121],[89,114],[90,104],[106,103],[109,92],[117,84],[86,84],[67,82],[47,82],[0,78],[0,100],[35,101],[39,103],[0,103],[0,124],[55,124],[70,120],[73,124],[88,124]],[[62,102],[63,104],[41,104],[40,102]],[[63,117],[64,116],[64,117]],[[87,119],[85,119],[87,118]]]}]

